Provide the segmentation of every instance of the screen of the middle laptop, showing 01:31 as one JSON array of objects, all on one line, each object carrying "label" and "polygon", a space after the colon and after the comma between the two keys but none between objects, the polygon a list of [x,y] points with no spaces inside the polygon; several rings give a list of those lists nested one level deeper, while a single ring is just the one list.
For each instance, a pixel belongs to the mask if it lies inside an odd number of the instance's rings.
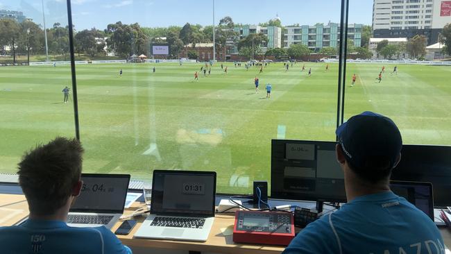
[{"label": "screen of the middle laptop, showing 01:31", "polygon": [[214,217],[216,172],[154,170],[151,213]]}]

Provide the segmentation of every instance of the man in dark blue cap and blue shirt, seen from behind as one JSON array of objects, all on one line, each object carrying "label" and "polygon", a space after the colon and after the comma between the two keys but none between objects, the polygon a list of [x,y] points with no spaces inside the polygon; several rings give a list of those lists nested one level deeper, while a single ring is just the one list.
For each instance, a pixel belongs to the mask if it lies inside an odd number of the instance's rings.
[{"label": "man in dark blue cap and blue shirt, seen from behind", "polygon": [[434,221],[390,190],[402,149],[395,123],[367,111],[336,134],[348,203],[309,223],[283,253],[445,253]]}]

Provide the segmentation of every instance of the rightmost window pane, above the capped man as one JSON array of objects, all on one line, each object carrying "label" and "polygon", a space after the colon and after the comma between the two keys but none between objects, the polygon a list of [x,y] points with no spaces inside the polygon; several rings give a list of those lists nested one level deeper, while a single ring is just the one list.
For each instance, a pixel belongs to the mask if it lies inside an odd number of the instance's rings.
[{"label": "rightmost window pane, above the capped man", "polygon": [[[385,2],[374,1],[373,7],[373,1],[350,0],[349,24],[365,26],[362,47],[353,48],[348,58],[370,60],[348,62],[345,120],[371,110],[391,117],[405,144],[449,145],[451,67],[450,62],[444,65],[446,56],[439,43],[449,16],[440,15],[439,1],[431,6]],[[411,15],[427,12],[432,15]],[[353,74],[357,78],[352,87]]]}]

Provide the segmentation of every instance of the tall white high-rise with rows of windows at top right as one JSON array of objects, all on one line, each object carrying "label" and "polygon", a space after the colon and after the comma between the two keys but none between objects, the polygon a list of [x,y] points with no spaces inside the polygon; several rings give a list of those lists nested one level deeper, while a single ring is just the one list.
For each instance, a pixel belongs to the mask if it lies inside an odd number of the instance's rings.
[{"label": "tall white high-rise with rows of windows at top right", "polygon": [[425,35],[427,44],[438,41],[445,24],[451,23],[451,3],[443,0],[374,0],[373,37]]}]

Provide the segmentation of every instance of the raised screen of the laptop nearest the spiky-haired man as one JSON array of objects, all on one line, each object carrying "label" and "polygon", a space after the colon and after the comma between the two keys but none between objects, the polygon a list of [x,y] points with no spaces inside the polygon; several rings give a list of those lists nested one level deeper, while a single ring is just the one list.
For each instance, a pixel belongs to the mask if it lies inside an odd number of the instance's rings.
[{"label": "raised screen of the laptop nearest the spiky-haired man", "polygon": [[130,175],[82,173],[80,196],[69,212],[124,213]]}]

